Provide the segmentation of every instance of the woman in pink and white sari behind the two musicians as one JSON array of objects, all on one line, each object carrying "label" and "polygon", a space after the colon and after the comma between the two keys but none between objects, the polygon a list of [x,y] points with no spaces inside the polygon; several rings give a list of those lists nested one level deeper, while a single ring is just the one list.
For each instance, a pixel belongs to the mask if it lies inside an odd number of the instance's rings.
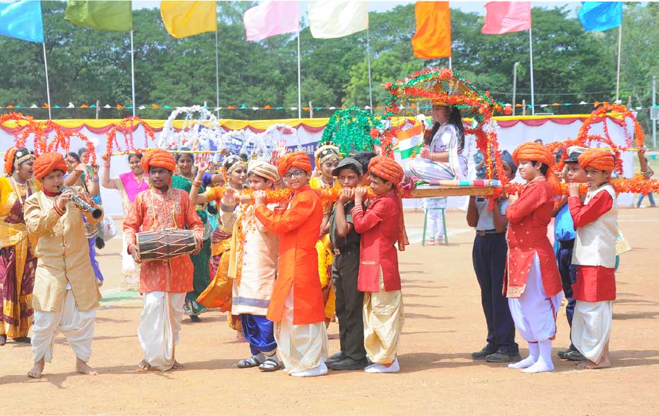
[{"label": "woman in pink and white sari behind the two musicians", "polygon": [[[117,189],[121,195],[121,207],[126,218],[132,202],[138,193],[148,189],[148,175],[142,168],[142,153],[128,155],[130,172],[121,173],[119,177],[110,177],[110,157],[103,157],[101,169],[101,185],[105,189]],[[128,291],[139,291],[139,264],[135,264],[132,256],[128,254],[126,239],[121,245],[121,286]]]}]

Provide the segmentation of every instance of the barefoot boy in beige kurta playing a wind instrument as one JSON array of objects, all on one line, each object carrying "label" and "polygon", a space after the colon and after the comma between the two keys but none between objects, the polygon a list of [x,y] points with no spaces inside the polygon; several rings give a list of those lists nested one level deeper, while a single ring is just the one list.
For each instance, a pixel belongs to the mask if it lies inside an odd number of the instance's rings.
[{"label": "barefoot boy in beige kurta playing a wind instrument", "polygon": [[42,190],[29,196],[24,205],[26,229],[39,237],[35,256],[37,270],[32,306],[34,324],[32,354],[34,367],[28,376],[38,379],[45,362],[53,357],[53,340],[58,331],[67,338],[76,354],[76,371],[95,375],[87,365],[92,354],[94,317],[101,293],[89,262],[89,245],[83,215],[88,223],[98,224],[103,216],[94,218],[71,201],[74,193],[94,208],[94,201],[72,187],[61,192],[67,164],[59,153],[44,153],[33,164],[36,180]]}]

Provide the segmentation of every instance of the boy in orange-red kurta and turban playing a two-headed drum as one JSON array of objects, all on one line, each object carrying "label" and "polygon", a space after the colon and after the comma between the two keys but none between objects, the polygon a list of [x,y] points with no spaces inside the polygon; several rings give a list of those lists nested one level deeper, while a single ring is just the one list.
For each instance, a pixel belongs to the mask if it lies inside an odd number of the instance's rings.
[{"label": "boy in orange-red kurta and turban playing a two-headed drum", "polygon": [[[142,158],[148,172],[151,189],[135,197],[123,220],[123,234],[128,253],[137,259],[136,234],[165,228],[194,231],[198,253],[201,248],[203,224],[186,191],[171,188],[171,175],[176,162],[165,150],[155,150]],[[139,271],[139,291],[144,297],[137,338],[144,350],[139,370],[180,368],[174,358],[181,329],[185,294],[192,290],[194,266],[189,256],[164,261],[145,261]]]}]

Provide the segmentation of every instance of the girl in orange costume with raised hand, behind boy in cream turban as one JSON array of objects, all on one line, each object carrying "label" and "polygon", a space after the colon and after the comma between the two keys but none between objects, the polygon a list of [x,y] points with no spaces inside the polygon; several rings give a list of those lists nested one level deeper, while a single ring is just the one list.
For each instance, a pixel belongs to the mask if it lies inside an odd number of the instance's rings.
[{"label": "girl in orange costume with raised hand, behind boy in cream turban", "polygon": [[[221,203],[223,191],[226,187],[210,188],[203,193],[199,193],[200,181],[208,166],[201,166],[195,183],[190,192],[190,199],[195,204],[206,204],[215,201],[218,205]],[[222,164],[222,175],[228,187],[235,191],[245,189],[247,180],[247,163],[245,158],[238,155],[225,157]],[[228,277],[229,274],[229,250],[231,248],[232,229],[219,224],[212,236],[212,264],[214,265],[213,281],[207,285],[203,293],[197,297],[197,302],[207,308],[220,308],[221,311],[230,311],[232,306],[232,286],[233,281]],[[241,336],[240,316],[229,315],[229,327],[239,331]]]}]

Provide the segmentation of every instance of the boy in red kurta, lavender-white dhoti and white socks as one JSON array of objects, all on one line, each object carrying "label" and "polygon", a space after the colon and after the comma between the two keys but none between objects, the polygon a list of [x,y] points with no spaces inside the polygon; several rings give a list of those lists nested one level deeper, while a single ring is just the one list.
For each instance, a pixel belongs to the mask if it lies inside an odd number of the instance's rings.
[{"label": "boy in red kurta, lavender-white dhoti and white socks", "polygon": [[515,327],[529,343],[529,356],[508,367],[527,373],[554,371],[551,340],[563,299],[556,257],[547,239],[559,187],[551,171],[554,156],[542,144],[524,143],[513,152],[513,161],[527,184],[506,209],[510,225],[504,292]]}]

